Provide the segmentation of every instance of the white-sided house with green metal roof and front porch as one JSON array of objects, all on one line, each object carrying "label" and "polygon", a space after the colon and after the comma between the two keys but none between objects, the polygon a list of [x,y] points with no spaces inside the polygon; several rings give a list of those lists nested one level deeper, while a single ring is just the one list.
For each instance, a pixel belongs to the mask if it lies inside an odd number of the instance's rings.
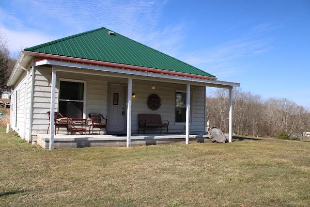
[{"label": "white-sided house with green metal roof and front porch", "polygon": [[[206,87],[227,88],[232,100],[240,86],[106,28],[24,49],[7,85],[13,88],[11,127],[29,143],[47,133],[47,111],[59,111],[72,118],[103,114],[108,134],[125,133],[127,146],[138,133],[139,113],[161,114],[169,132],[185,133],[188,143],[190,133],[205,131]],[[150,95],[160,102],[155,108],[147,105]]]}]

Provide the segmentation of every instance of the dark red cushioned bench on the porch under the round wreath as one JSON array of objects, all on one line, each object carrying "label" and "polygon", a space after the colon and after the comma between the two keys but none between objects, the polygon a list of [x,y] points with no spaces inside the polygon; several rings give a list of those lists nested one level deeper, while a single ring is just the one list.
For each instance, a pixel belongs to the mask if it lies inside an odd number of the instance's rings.
[{"label": "dark red cushioned bench on the porch under the round wreath", "polygon": [[138,134],[140,133],[140,128],[144,129],[145,134],[146,127],[160,127],[160,133],[162,128],[167,128],[167,134],[168,134],[169,121],[168,120],[162,121],[160,114],[138,114],[138,118],[139,118]]}]

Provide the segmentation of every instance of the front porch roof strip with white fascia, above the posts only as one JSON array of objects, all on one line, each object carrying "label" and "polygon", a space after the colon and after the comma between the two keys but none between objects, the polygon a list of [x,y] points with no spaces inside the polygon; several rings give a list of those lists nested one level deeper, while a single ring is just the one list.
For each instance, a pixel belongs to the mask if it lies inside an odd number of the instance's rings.
[{"label": "front porch roof strip with white fascia, above the posts only", "polygon": [[[88,63],[88,62],[87,62]],[[202,77],[180,74],[180,73],[167,73],[161,70],[148,70],[148,68],[141,67],[128,67],[128,65],[114,65],[106,66],[102,63],[92,62],[88,64],[78,62],[65,62],[59,60],[44,59],[36,62],[39,65],[57,65],[57,71],[74,72],[89,75],[110,76],[117,78],[128,78],[130,75],[132,79],[137,80],[152,80],[158,82],[167,82],[176,84],[191,84],[199,86],[217,87],[217,88],[232,88],[240,86],[240,83],[226,82],[220,80],[203,79]],[[70,68],[78,68],[72,70]],[[104,73],[103,73],[104,72]],[[205,77],[204,77],[205,78]]]}]

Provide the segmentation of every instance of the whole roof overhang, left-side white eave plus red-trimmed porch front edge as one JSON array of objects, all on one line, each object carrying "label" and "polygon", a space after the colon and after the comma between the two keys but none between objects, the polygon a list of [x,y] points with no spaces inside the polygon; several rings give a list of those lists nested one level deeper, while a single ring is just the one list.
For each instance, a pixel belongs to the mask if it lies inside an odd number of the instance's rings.
[{"label": "whole roof overhang, left-side white eave plus red-trimmed porch front edge", "polygon": [[[81,68],[81,69],[89,69],[93,71],[105,71],[110,74],[114,74],[115,77],[119,77],[119,75],[132,75],[139,76],[139,79],[169,79],[170,82],[185,84],[186,82],[193,83],[196,85],[204,85],[210,87],[219,87],[219,88],[232,88],[239,87],[240,83],[219,81],[215,77],[207,77],[195,74],[187,74],[180,73],[162,69],[155,68],[147,68],[136,65],[126,65],[126,64],[116,64],[95,60],[86,60],[81,58],[72,58],[72,57],[63,57],[59,55],[50,55],[44,53],[30,52],[30,51],[22,51],[19,55],[17,63],[13,69],[13,72],[9,78],[8,86],[13,86],[16,81],[19,79],[21,74],[24,72],[25,68],[30,64],[31,60],[35,58],[35,66],[40,65],[57,65],[62,66],[63,71],[70,71],[66,68]],[[78,72],[78,71],[74,71]],[[85,70],[80,73],[85,73]],[[90,74],[93,74],[91,72]]]}]

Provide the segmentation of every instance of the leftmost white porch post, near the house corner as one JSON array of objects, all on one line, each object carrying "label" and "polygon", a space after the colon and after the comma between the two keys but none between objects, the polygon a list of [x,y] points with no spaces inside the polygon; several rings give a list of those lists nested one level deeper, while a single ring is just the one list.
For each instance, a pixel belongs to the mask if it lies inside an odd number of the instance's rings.
[{"label": "leftmost white porch post, near the house corner", "polygon": [[56,88],[56,70],[52,66],[52,80],[51,80],[51,92],[50,92],[50,128],[49,128],[49,150],[54,149],[54,118],[55,118],[55,88]]}]

